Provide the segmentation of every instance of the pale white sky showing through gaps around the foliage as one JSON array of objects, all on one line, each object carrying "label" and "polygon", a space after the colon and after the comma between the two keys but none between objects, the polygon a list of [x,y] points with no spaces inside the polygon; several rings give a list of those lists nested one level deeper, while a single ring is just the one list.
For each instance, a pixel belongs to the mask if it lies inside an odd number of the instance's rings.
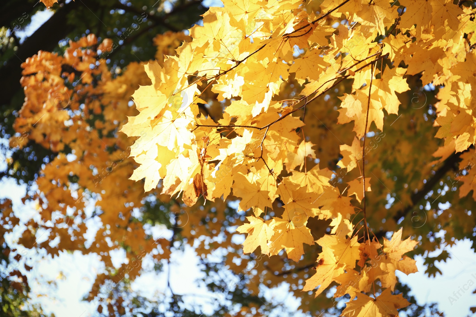
[{"label": "pale white sky showing through gaps around the foliage", "polygon": [[[51,14],[51,11],[47,10],[37,13],[33,17],[32,23],[26,29],[17,32],[17,35],[20,38],[29,36]],[[4,162],[2,155],[0,154],[0,162]],[[0,169],[3,170],[4,166],[1,165],[0,163]],[[0,199],[12,199],[15,212],[20,213],[23,217],[28,217],[33,209],[29,210],[28,205],[23,206],[20,202],[24,193],[25,187],[17,185],[13,180],[4,178],[0,181]],[[160,234],[161,229],[156,229],[154,236]],[[91,236],[92,234],[93,232],[91,232]],[[15,237],[12,236],[10,239],[13,242]],[[444,250],[448,251],[451,259],[436,264],[443,275],[428,278],[424,273],[424,259],[417,257],[415,259],[418,272],[407,276],[397,271],[397,277],[400,282],[407,283],[412,288],[412,294],[417,298],[419,304],[436,302],[446,317],[467,316],[470,314],[469,307],[476,306],[476,295],[472,294],[472,291],[476,289],[476,253],[471,250],[469,240],[456,241],[454,246]],[[433,252],[430,256],[436,256],[440,252]],[[30,281],[32,301],[40,303],[45,312],[54,313],[57,317],[92,316],[95,304],[81,299],[87,295],[96,275],[104,268],[98,257],[93,254],[82,255],[79,251],[75,251],[61,253],[55,259],[42,258],[41,255],[35,256],[35,259],[36,263],[27,275]],[[122,260],[123,254],[118,252],[115,264],[119,266]],[[204,285],[194,283],[202,276],[202,273],[199,269],[198,255],[193,248],[187,247],[184,251],[174,251],[171,263],[170,268],[167,268],[170,269],[171,288],[176,294],[189,294],[187,301],[191,306],[194,303],[203,302],[203,298],[215,296],[208,292]],[[167,292],[165,287],[167,285],[167,269],[161,274],[143,274],[133,283],[133,291],[148,298],[161,296]],[[49,284],[46,281],[54,281],[54,283]],[[286,302],[291,310],[296,310],[299,305],[299,300],[288,292],[286,283],[278,288],[263,291],[266,298]],[[210,307],[205,308],[205,313],[207,313],[207,309],[211,311]]]}]

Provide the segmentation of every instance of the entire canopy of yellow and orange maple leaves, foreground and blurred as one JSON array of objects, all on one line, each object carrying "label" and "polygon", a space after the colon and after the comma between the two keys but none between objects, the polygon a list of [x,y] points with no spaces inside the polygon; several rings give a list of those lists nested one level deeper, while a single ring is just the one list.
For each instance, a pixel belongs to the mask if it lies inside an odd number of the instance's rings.
[{"label": "entire canopy of yellow and orange maple leaves, foreground and blurred", "polygon": [[[64,56],[40,52],[23,64],[26,99],[10,144],[34,140],[58,156],[30,195],[43,222],[31,221],[20,243],[32,248],[33,228],[48,226],[53,212],[67,215],[49,227],[50,240],[60,242],[39,247],[104,254],[107,269],[89,300],[125,274],[139,276],[145,254],[170,265],[180,240],[198,241],[204,259],[227,250],[225,265],[244,273],[252,292],[289,281],[304,291],[297,293],[304,311],[331,307],[317,296],[337,285],[334,297],[350,299],[342,316],[397,316],[410,303],[392,294],[396,270],[414,273],[414,254],[474,240],[474,201],[465,197],[476,198],[475,8],[464,1],[223,3],[188,36],[159,36],[157,60],[131,63],[121,76],[98,54],[111,41],[98,47],[92,35],[71,41]],[[56,93],[67,93],[66,106]],[[446,177],[451,169],[456,177]],[[430,199],[434,191],[444,197]],[[94,248],[83,240],[88,198],[103,223]],[[443,199],[451,213],[440,212]],[[410,213],[422,200],[424,219]],[[227,207],[234,201],[237,211]],[[173,221],[153,218],[154,205]],[[172,238],[152,239],[147,221],[169,225]],[[233,225],[246,233],[243,251],[265,257],[240,254],[224,229]],[[440,230],[449,238],[436,237]],[[114,268],[109,252],[118,248],[138,265]],[[435,275],[436,259],[427,260]],[[248,261],[262,264],[258,273]],[[109,314],[121,314],[122,296],[107,294]]]}]

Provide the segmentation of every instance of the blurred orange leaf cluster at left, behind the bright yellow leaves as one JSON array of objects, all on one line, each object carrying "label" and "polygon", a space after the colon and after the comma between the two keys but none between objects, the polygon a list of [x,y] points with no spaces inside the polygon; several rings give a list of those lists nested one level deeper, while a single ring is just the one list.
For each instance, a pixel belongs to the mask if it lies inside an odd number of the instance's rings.
[{"label": "blurred orange leaf cluster at left, behind the bright yellow leaves", "polygon": [[[172,52],[173,45],[177,47],[186,39],[182,32],[166,36],[176,36],[178,40],[170,41],[173,44],[158,42],[161,53]],[[114,77],[105,60],[98,58],[98,51],[109,51],[111,42],[106,38],[98,43],[94,35],[89,35],[70,41],[63,56],[40,51],[29,58],[22,65],[25,103],[14,123],[17,134],[10,138],[12,148],[35,142],[57,154],[42,166],[36,192],[25,197],[34,201],[40,221],[25,223],[27,229],[19,243],[26,248],[42,248],[53,257],[66,250],[100,255],[106,272],[97,277],[89,300],[102,296],[101,288],[111,281],[118,283],[126,274],[129,280],[139,276],[145,255],[157,261],[169,258],[170,240],[151,239],[133,215],[133,209],[141,208],[150,194],[163,204],[171,204],[170,211],[178,215],[182,236],[191,245],[198,245],[201,254],[213,250],[194,241],[202,235],[218,236],[226,221],[225,202],[217,202],[213,209],[207,206],[184,210],[184,206],[173,203],[159,190],[144,193],[141,183],[127,180],[137,167],[128,158],[133,140],[118,130],[127,122],[127,116],[137,114],[130,96],[139,85],[150,84],[150,80],[138,63],[116,69],[120,76]],[[85,220],[91,216],[85,209],[91,207],[92,200],[102,227],[89,245]],[[8,228],[9,221],[11,227],[19,224],[7,209],[2,215],[2,228]],[[211,221],[204,222],[206,218]],[[39,229],[50,231],[43,242],[37,242]],[[50,244],[55,239],[58,243]],[[239,249],[231,242],[231,234],[215,245]],[[113,266],[110,252],[117,249],[126,250],[129,264]],[[231,259],[228,264],[236,266]],[[108,307],[114,306],[109,307],[111,316],[122,307],[122,299],[114,298],[116,295],[112,291],[106,294]]]}]

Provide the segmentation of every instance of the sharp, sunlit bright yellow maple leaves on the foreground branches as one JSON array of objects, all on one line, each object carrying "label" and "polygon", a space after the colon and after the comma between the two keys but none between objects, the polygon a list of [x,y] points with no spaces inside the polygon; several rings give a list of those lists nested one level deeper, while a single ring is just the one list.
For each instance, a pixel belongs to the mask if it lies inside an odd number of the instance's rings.
[{"label": "sharp, sunlit bright yellow maple leaves on the foreground branches", "polygon": [[[470,106],[473,12],[437,1],[402,1],[398,8],[386,0],[329,0],[317,4],[318,10],[312,1],[303,5],[296,0],[229,0],[224,5],[208,10],[203,26],[189,30],[193,39],[178,54],[163,65],[145,66],[152,85],[134,93],[140,114],[122,129],[139,137],[131,156],[140,167],[131,179],[145,179],[146,191],[162,179],[164,193],[181,194],[189,205],[200,197],[238,197],[239,209],[253,212],[249,223],[238,228],[248,233],[245,252],[259,247],[273,256],[284,249],[298,261],[303,244],[317,243],[323,249],[317,273],[304,290],[320,286],[318,294],[356,274],[358,285],[341,288],[341,296],[370,292],[377,279],[382,288],[393,290],[395,270],[416,271],[414,261],[403,256],[416,242],[401,242],[401,231],[383,245],[357,242],[349,196],[357,202],[365,199],[370,179],[364,182],[361,175],[349,182],[344,196],[329,184],[332,173],[327,169],[307,169],[308,159],[316,158],[314,144],[300,135],[304,123],[292,114],[340,81],[353,79],[352,91],[341,97],[338,109],[339,124],[354,123],[356,138],[350,146],[341,145],[338,163],[351,171],[364,155],[361,139],[370,125],[382,130],[385,113],[398,114],[397,93],[409,89],[404,76],[422,73],[424,84],[445,86],[437,105],[436,124],[442,127],[436,136],[452,147],[446,152],[466,150],[475,143]],[[342,16],[348,25],[330,26]],[[379,36],[383,39],[375,40]],[[461,54],[464,58],[455,63]],[[381,67],[375,67],[377,62]],[[279,99],[291,75],[303,89],[291,100]],[[200,110],[208,106],[203,86],[226,103],[221,118]],[[273,211],[276,200],[284,207],[281,215]],[[332,220],[332,234],[314,241],[307,228],[310,217]],[[367,260],[380,248],[382,259],[367,271]],[[395,309],[384,308],[385,303]],[[346,313],[397,315],[396,309],[406,305],[401,296],[385,290],[375,302],[358,295]]]}]

